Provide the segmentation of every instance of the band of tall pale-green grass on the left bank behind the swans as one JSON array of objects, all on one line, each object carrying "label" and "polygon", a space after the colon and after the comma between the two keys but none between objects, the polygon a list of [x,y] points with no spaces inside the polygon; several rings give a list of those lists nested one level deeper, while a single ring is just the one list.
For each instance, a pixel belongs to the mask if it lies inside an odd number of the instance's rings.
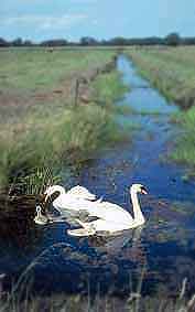
[{"label": "band of tall pale-green grass on the left bank behind the swans", "polygon": [[[1,140],[0,185],[29,175],[32,169],[61,166],[93,157],[107,144],[120,141],[122,130],[115,117],[97,105],[66,110],[42,120],[41,127],[14,132]],[[35,174],[34,172],[32,174]]]}]

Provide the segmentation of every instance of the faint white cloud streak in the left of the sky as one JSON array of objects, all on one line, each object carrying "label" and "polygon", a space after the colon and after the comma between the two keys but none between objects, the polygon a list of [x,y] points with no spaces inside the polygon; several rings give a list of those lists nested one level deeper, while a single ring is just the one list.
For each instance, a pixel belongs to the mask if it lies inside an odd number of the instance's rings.
[{"label": "faint white cloud streak in the left of the sky", "polygon": [[26,14],[20,17],[10,17],[1,19],[0,24],[4,26],[35,26],[41,30],[59,30],[69,29],[88,17],[82,13],[72,13],[63,15],[40,15],[40,14]]}]

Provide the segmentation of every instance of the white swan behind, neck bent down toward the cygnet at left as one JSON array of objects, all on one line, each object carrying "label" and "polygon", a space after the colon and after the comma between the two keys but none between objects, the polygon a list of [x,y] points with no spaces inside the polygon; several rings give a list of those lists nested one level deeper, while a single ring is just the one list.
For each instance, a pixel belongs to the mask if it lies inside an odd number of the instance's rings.
[{"label": "white swan behind, neck bent down toward the cygnet at left", "polygon": [[[45,191],[45,203],[48,197],[58,193],[58,196],[53,201],[53,206],[63,214],[66,211],[87,211],[88,203],[96,201],[96,195],[90,193],[86,187],[77,185],[68,192],[61,185],[48,186]],[[100,202],[100,200],[96,201]]]}]

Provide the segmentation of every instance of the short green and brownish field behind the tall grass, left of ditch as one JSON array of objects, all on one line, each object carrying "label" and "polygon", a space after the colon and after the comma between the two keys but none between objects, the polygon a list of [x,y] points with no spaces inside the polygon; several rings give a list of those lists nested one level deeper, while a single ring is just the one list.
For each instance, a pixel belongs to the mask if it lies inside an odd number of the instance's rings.
[{"label": "short green and brownish field behind the tall grass, left of ditch", "polygon": [[0,50],[0,116],[21,117],[25,110],[55,101],[71,105],[75,82],[90,77],[113,57],[115,51],[63,49]]}]

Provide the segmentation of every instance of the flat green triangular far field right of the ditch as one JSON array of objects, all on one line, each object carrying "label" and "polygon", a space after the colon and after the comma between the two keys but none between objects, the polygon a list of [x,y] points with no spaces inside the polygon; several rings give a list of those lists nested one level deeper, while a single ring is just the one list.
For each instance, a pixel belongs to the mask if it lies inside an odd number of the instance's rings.
[{"label": "flat green triangular far field right of the ditch", "polygon": [[126,53],[169,99],[183,108],[195,104],[195,47],[142,47]]}]

